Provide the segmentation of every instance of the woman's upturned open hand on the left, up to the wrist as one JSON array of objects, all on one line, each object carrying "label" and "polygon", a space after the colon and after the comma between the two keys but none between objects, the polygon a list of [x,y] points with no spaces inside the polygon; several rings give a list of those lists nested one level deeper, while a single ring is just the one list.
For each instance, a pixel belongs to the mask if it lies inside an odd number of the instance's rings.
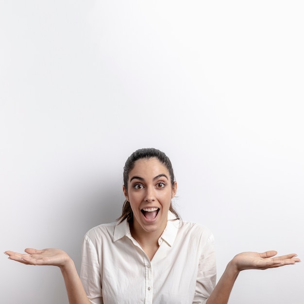
[{"label": "woman's upturned open hand on the left, up to the wrist", "polygon": [[27,254],[15,253],[13,251],[6,251],[5,254],[9,256],[9,259],[26,265],[52,265],[62,268],[71,261],[68,254],[60,249],[48,248],[37,250],[27,248],[24,251]]}]

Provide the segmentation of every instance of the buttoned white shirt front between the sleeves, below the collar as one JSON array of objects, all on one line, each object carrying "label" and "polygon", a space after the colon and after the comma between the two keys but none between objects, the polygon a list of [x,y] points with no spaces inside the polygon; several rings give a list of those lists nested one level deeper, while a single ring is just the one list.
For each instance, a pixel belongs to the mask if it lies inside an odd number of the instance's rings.
[{"label": "buttoned white shirt front between the sleeves, below the collar", "polygon": [[[131,240],[116,242],[102,254],[101,282],[105,304],[192,303],[199,255],[188,246],[161,243],[152,261]],[[191,258],[189,258],[191,256]]]}]

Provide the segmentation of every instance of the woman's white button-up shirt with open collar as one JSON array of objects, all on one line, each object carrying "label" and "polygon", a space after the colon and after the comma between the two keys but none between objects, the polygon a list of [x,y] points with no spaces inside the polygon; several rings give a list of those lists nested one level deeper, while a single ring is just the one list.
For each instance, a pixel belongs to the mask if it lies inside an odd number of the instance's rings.
[{"label": "woman's white button-up shirt with open collar", "polygon": [[152,260],[127,220],[101,224],[84,236],[81,280],[94,304],[206,303],[216,284],[214,239],[197,223],[169,212]]}]

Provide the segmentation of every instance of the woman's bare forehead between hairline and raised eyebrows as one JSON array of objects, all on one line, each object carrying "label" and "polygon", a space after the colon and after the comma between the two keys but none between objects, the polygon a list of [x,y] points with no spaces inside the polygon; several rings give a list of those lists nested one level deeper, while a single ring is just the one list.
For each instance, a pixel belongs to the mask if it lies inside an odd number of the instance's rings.
[{"label": "woman's bare forehead between hairline and raised eyebrows", "polygon": [[140,176],[153,178],[159,174],[166,174],[169,178],[167,167],[162,164],[157,158],[141,158],[136,160],[134,168],[130,171],[129,180],[132,176]]}]

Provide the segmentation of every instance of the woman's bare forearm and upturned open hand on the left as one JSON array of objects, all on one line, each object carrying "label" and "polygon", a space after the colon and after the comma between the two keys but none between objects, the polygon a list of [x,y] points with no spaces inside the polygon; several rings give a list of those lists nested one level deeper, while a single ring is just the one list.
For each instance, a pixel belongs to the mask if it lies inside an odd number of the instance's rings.
[{"label": "woman's bare forearm and upturned open hand on the left", "polygon": [[15,253],[6,251],[9,259],[26,265],[51,265],[60,268],[70,304],[91,304],[88,300],[84,287],[78,276],[73,260],[62,250],[59,249],[43,249],[36,250],[27,248],[25,252],[28,254]]}]

